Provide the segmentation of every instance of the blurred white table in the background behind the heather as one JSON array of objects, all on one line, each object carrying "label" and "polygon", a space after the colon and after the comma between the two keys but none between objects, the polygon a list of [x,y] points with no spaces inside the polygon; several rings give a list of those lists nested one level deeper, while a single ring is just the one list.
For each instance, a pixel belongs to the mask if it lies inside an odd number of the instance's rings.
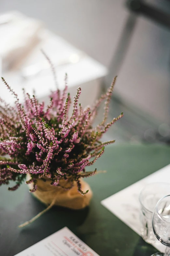
[{"label": "blurred white table in the background behind the heather", "polygon": [[[80,86],[82,89],[80,102],[83,106],[91,105],[100,93],[100,79],[106,76],[106,67],[46,29],[41,29],[39,43],[25,58],[20,68],[2,73],[2,77],[19,95],[21,101],[22,88],[31,95],[35,90],[35,95],[45,101],[50,91],[56,89],[48,61],[41,49],[55,65],[59,89],[64,88],[64,77],[67,73],[68,91],[71,97],[76,94],[76,89]],[[2,81],[1,97],[9,103],[15,101]]]}]

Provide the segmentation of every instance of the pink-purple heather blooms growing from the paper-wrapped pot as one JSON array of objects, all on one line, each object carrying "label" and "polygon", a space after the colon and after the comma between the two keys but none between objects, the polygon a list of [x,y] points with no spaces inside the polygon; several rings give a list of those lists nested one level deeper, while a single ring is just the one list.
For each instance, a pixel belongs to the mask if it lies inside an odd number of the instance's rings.
[{"label": "pink-purple heather blooms growing from the paper-wrapped pot", "polygon": [[[10,180],[16,185],[8,188],[16,190],[26,174],[31,179],[36,191],[37,179],[48,177],[51,185],[59,186],[60,179],[70,179],[77,182],[78,191],[85,195],[88,191],[81,190],[81,178],[92,176],[93,172],[85,172],[85,167],[92,165],[104,153],[104,146],[114,143],[100,143],[100,138],[107,129],[119,120],[123,113],[106,124],[111,94],[116,77],[108,89],[90,110],[78,107],[81,88],[74,97],[73,113],[68,116],[71,99],[67,94],[67,75],[63,93],[58,89],[52,93],[49,106],[39,103],[33,95],[24,93],[23,106],[17,94],[11,89],[4,78],[3,82],[16,98],[15,107],[9,106],[0,99],[0,185],[9,184]],[[66,96],[67,95],[67,96]],[[101,101],[106,99],[104,120],[93,128],[92,121]],[[10,158],[5,157],[8,155]],[[92,161],[90,161],[93,158]]]}]

